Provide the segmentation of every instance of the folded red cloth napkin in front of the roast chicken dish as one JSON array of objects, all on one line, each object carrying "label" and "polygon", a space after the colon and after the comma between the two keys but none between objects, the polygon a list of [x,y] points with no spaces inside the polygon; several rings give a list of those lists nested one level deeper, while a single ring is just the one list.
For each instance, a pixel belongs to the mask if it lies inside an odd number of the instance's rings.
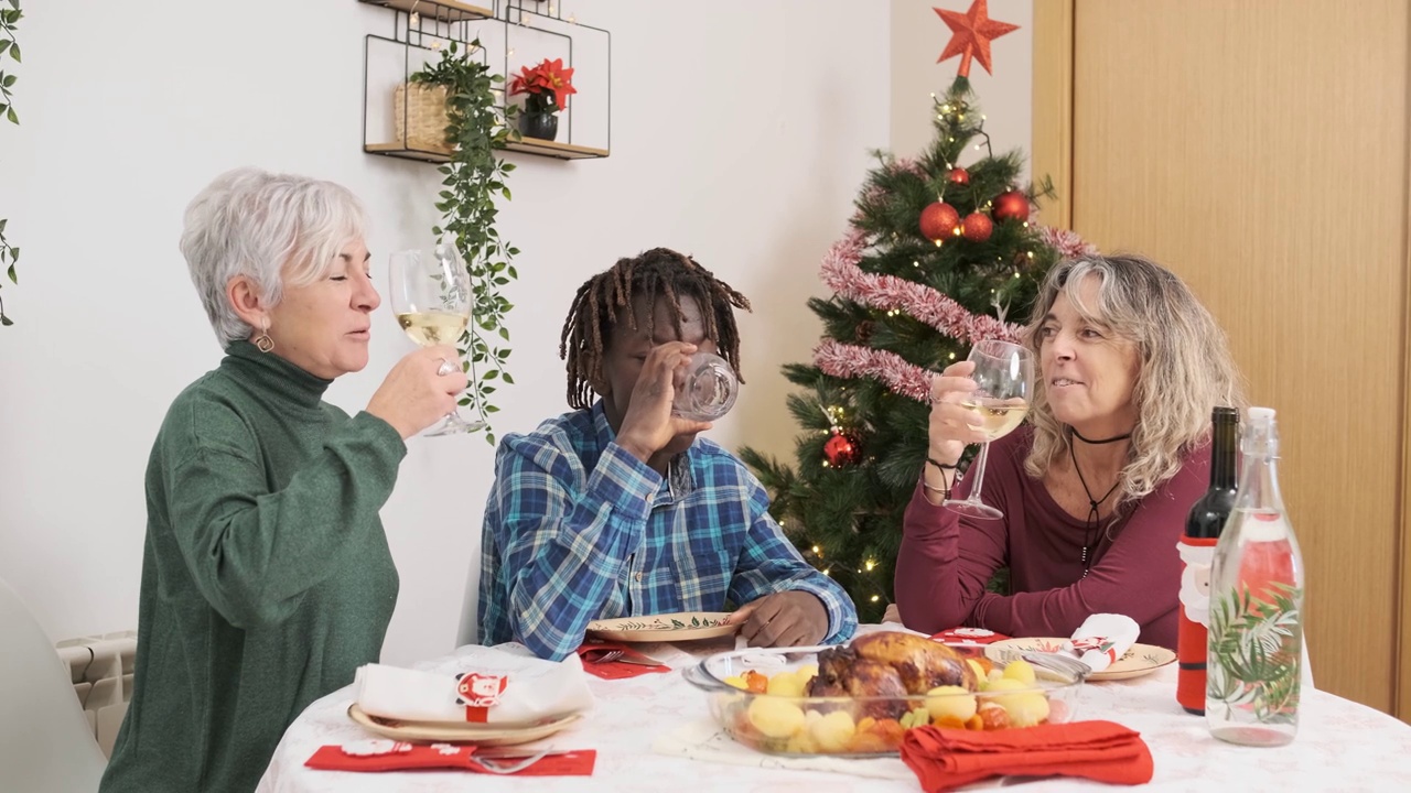
[{"label": "folded red cloth napkin in front of the roast chicken dish", "polygon": [[902,761],[927,793],[1002,775],[1082,776],[1115,785],[1151,782],[1151,752],[1141,735],[1112,721],[992,732],[917,727],[906,731]]}]

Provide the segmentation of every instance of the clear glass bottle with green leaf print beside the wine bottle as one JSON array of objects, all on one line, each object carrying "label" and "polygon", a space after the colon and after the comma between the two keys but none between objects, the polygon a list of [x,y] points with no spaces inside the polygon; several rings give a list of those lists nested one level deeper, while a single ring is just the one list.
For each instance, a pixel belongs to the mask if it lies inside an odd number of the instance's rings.
[{"label": "clear glass bottle with green leaf print beside the wine bottle", "polygon": [[1304,562],[1278,492],[1274,411],[1250,408],[1239,495],[1211,566],[1205,720],[1222,741],[1280,746],[1298,732]]}]

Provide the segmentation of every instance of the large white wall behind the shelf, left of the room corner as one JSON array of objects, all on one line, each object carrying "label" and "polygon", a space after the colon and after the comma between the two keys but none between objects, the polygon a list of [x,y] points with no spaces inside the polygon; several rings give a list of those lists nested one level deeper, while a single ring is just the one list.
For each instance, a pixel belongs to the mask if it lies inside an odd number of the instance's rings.
[{"label": "large white wall behind the shelf, left of the room corner", "polygon": [[[612,157],[514,155],[501,229],[523,248],[509,315],[518,387],[499,392],[497,429],[564,409],[557,334],[576,286],[670,246],[756,306],[742,320],[749,385],[717,439],[792,456],[777,370],[817,341],[804,301],[824,293],[818,260],[866,150],[889,143],[888,6],[566,7],[612,31]],[[18,325],[0,330],[0,577],[59,639],[135,625],[147,454],[171,399],[220,358],[176,250],[186,202],[243,164],[343,182],[375,217],[381,275],[385,254],[432,223],[436,174],[360,148],[363,37],[389,28],[387,11],[68,0],[25,13],[24,124],[0,126],[0,216],[24,248],[21,285],[3,292]],[[924,69],[945,32],[927,14]],[[1006,72],[1020,69],[1013,49],[996,48]],[[349,411],[411,349],[385,305],[374,322],[371,364],[329,392]],[[452,646],[491,466],[480,436],[411,443],[382,512],[402,577],[387,660]]]}]

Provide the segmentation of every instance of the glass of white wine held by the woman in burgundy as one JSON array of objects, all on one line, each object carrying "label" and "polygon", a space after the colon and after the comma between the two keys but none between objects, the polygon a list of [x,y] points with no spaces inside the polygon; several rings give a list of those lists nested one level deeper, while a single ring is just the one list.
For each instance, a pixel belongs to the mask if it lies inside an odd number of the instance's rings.
[{"label": "glass of white wine held by the woman in burgundy", "polygon": [[976,341],[967,360],[975,364],[975,371],[971,373],[975,391],[961,399],[961,406],[979,415],[985,443],[975,456],[969,497],[947,498],[944,504],[962,515],[1003,518],[1003,512],[979,498],[981,485],[985,484],[985,460],[989,442],[1013,432],[1029,415],[1029,401],[1034,392],[1034,356],[1019,344],[988,339]]}]

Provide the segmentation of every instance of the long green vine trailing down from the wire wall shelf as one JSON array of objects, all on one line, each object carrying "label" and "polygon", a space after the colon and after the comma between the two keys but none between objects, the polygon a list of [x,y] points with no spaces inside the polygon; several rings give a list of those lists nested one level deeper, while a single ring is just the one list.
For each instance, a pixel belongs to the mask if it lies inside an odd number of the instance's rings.
[{"label": "long green vine trailing down from the wire wall shelf", "polygon": [[437,238],[443,233],[454,236],[470,272],[473,313],[460,340],[470,385],[460,404],[470,406],[485,422],[485,440],[494,444],[490,413],[499,408],[491,404],[491,395],[497,381],[514,384],[505,368],[509,329],[504,323],[514,305],[499,289],[519,278],[509,264],[519,250],[501,240],[495,230],[499,213],[495,199],[511,199],[505,175],[515,167],[495,152],[505,148],[511,137],[508,121],[515,117],[516,109],[501,106],[494,87],[504,78],[471,58],[477,49],[478,40],[466,45],[464,51],[452,41],[442,49],[437,62],[428,63],[411,80],[446,89],[446,144],[452,154],[450,162],[439,168],[444,178],[436,210],[442,219],[432,231]]}]

